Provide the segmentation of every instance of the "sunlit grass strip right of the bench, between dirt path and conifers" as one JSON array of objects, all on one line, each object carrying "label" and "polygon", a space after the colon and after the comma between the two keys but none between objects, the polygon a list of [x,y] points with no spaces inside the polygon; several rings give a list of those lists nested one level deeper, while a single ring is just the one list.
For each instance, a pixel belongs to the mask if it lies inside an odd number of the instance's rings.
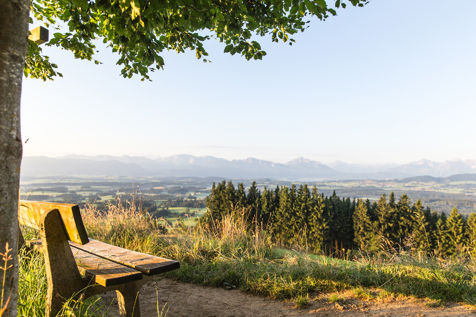
[{"label": "sunlit grass strip right of the bench, between dirt path and conifers", "polygon": [[[115,212],[115,213],[114,213]],[[392,262],[367,258],[345,261],[276,249],[267,232],[247,232],[242,215],[227,215],[219,230],[173,229],[164,236],[120,217],[120,210],[85,224],[93,238],[180,261],[165,276],[203,285],[235,285],[244,291],[276,298],[297,298],[312,292],[356,287],[382,288],[389,293],[476,303],[476,277],[465,265],[411,255]],[[109,217],[109,218],[108,218]],[[117,222],[118,219],[125,222]],[[227,284],[225,284],[227,283]]]}]

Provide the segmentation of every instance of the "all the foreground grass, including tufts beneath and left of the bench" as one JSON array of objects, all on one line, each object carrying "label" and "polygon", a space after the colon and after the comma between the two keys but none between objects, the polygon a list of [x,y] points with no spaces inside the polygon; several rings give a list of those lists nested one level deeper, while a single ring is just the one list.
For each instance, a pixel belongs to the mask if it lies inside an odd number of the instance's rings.
[{"label": "all the foreground grass, including tufts beneath and left of the bench", "polygon": [[[437,304],[476,304],[470,250],[444,259],[427,257],[411,245],[398,252],[380,246],[373,254],[329,258],[307,254],[305,244],[289,250],[276,248],[272,228],[247,223],[243,210],[238,209],[214,223],[172,227],[167,234],[156,230],[133,204],[110,205],[106,213],[86,205],[82,215],[90,238],[180,261],[179,269],[164,275],[175,280],[289,298],[297,306],[305,306],[317,294],[349,289],[362,296],[372,290],[379,297],[414,296]],[[34,238],[35,232],[25,235]],[[21,252],[19,316],[41,317],[46,295],[42,254]],[[99,297],[85,303],[70,302],[64,313],[103,316],[102,305],[107,303]],[[161,314],[159,309],[158,316],[164,316]]]}]

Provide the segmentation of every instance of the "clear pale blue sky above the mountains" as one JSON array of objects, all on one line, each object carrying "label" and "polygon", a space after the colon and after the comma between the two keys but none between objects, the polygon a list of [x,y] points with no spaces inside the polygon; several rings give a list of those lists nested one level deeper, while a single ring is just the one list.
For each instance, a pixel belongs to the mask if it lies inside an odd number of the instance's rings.
[{"label": "clear pale blue sky above the mountains", "polygon": [[218,40],[212,63],[164,52],[152,82],[122,78],[101,44],[99,66],[43,46],[64,77],[23,80],[24,156],[476,159],[475,15],[474,0],[372,0],[292,46],[259,38],[262,61]]}]

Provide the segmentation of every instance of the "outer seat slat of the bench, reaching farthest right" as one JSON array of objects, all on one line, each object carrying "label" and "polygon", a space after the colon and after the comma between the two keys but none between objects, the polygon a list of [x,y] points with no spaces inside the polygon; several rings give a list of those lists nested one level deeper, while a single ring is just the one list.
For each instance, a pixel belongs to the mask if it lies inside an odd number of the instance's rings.
[{"label": "outer seat slat of the bench, reaching farthest right", "polygon": [[135,268],[147,276],[168,272],[180,267],[178,261],[130,251],[94,239],[89,239],[89,243],[82,246],[74,242],[69,243],[69,245],[98,257],[107,258],[113,262]]}]

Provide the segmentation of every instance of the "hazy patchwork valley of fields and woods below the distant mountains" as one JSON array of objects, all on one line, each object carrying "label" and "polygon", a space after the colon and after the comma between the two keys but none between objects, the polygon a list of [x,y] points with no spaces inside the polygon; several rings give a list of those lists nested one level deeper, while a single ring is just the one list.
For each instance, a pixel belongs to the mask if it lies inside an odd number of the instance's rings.
[{"label": "hazy patchwork valley of fields and woods below the distant mountains", "polygon": [[[213,181],[218,182],[220,178],[180,178],[175,180],[163,180],[162,178],[131,178],[131,177],[107,177],[107,178],[25,178],[21,183],[20,197],[25,198],[30,195],[31,200],[44,201],[64,201],[69,203],[84,204],[89,202],[88,196],[99,195],[101,200],[96,201],[96,205],[107,202],[115,202],[118,194],[122,201],[130,199],[130,195],[140,188],[141,198],[154,201],[159,204],[168,199],[188,199],[190,197],[199,199],[204,203],[205,198],[210,193]],[[438,212],[450,210],[456,206],[461,214],[467,216],[476,211],[476,181],[436,179],[432,181],[416,181],[408,179],[402,181],[398,179],[387,180],[279,180],[279,179],[257,179],[258,189],[275,189],[277,186],[296,184],[297,186],[307,183],[308,186],[317,186],[319,192],[330,196],[333,191],[340,197],[368,198],[371,201],[377,200],[383,193],[394,192],[396,197],[407,194],[412,202],[421,199],[423,205],[428,206]],[[252,179],[236,179],[235,184],[243,182],[245,187],[249,187]],[[134,185],[133,185],[134,183]],[[168,194],[170,188],[193,187],[197,189],[181,194]],[[63,198],[64,192],[48,191],[48,188],[67,188],[68,196]],[[36,189],[43,190],[36,190]],[[157,189],[154,189],[157,188]],[[114,194],[114,195],[113,195]],[[139,191],[138,191],[139,194]],[[76,195],[76,196],[74,196]]]}]

